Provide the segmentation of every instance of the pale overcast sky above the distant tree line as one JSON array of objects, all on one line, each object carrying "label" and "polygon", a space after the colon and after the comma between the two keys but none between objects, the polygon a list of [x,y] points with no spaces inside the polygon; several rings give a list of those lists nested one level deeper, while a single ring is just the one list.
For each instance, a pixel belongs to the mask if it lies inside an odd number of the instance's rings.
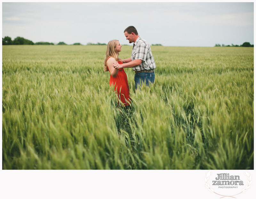
[{"label": "pale overcast sky above the distant tree line", "polygon": [[2,3],[3,35],[33,42],[108,43],[136,27],[151,44],[254,44],[253,3]]}]

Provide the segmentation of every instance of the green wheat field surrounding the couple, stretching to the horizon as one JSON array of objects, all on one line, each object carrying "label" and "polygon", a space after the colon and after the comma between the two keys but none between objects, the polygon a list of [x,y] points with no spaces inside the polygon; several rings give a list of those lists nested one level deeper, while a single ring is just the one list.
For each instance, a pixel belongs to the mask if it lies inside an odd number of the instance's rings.
[{"label": "green wheat field surrounding the couple, stretching to the horizon", "polygon": [[2,49],[3,169],[253,169],[253,48],[152,46],[127,112],[106,46]]}]

